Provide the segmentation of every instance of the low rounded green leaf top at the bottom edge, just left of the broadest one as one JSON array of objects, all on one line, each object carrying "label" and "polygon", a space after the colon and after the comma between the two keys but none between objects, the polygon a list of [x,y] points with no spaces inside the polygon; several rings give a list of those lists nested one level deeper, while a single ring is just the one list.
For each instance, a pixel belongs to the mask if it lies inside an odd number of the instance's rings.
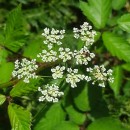
[{"label": "low rounded green leaf top at the bottom edge, just left of the broadest one", "polygon": [[70,122],[70,121],[63,121],[59,125],[57,125],[53,130],[79,130],[79,126]]}]

